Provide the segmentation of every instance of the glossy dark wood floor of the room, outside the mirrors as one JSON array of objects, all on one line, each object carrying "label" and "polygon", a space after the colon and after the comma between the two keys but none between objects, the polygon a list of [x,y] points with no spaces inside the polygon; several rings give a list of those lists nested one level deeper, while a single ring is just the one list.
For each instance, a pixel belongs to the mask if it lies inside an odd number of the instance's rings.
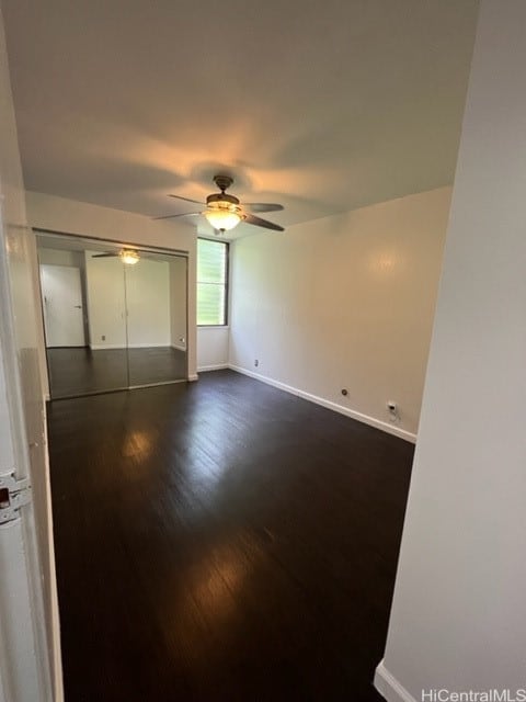
[{"label": "glossy dark wood floor of the room, outside the mirrors", "polygon": [[381,699],[411,444],[230,371],[49,442],[66,702]]}]

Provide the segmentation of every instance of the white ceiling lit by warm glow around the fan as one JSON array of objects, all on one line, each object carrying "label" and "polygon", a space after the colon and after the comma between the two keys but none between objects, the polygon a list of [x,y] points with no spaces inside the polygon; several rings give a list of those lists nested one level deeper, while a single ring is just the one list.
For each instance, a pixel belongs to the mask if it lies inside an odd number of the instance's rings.
[{"label": "white ceiling lit by warm glow around the fan", "polygon": [[2,9],[27,190],[164,215],[227,171],[286,226],[453,181],[476,0]]}]

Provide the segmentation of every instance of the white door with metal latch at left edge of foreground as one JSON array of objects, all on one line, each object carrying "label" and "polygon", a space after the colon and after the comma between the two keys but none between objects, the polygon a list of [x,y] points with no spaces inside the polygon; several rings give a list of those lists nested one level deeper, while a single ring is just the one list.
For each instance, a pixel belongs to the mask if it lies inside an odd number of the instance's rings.
[{"label": "white door with metal latch at left edge of foreground", "polygon": [[0,702],[62,699],[32,236],[0,201]]}]

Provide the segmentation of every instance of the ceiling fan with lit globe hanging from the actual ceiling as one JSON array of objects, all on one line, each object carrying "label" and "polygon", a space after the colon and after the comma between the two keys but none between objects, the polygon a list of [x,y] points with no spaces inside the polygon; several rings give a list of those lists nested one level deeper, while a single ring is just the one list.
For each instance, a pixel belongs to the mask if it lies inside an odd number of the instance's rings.
[{"label": "ceiling fan with lit globe hanging from the actual ceiling", "polygon": [[196,205],[205,206],[205,211],[185,212],[176,215],[165,215],[163,217],[153,218],[171,219],[172,217],[198,217],[204,215],[216,230],[216,234],[222,234],[233,229],[233,227],[237,227],[240,222],[252,224],[255,227],[273,229],[274,231],[284,231],[284,228],[278,224],[274,224],[267,219],[262,219],[261,217],[256,217],[252,214],[254,212],[278,212],[279,210],[283,210],[283,205],[265,202],[240,203],[238,197],[225,192],[233,183],[233,179],[230,178],[230,176],[214,176],[214,182],[221,192],[208,195],[206,203],[198,202],[197,200],[190,200],[188,197],[182,197],[181,195],[169,195],[176,200],[184,200],[185,202],[192,202]]}]

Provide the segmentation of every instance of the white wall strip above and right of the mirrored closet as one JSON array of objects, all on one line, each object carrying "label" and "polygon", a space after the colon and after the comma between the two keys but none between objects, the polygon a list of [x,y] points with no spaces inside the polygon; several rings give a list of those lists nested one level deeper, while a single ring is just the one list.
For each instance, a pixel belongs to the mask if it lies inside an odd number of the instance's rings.
[{"label": "white wall strip above and right of the mirrored closet", "polygon": [[[125,244],[176,249],[188,254],[188,374],[196,378],[196,313],[195,313],[195,229],[179,222],[152,220],[141,215],[100,207],[88,203],[26,193],[31,226],[65,234],[77,234]],[[45,359],[41,355],[41,362]],[[45,367],[45,366],[44,366]]]}]

